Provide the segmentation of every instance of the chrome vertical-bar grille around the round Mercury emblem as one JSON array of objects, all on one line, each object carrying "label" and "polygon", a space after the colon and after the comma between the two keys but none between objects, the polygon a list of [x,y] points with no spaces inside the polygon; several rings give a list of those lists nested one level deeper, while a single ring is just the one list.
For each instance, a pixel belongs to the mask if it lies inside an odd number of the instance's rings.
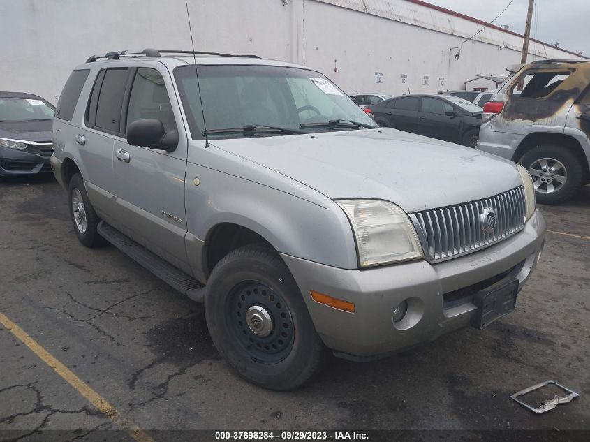
[{"label": "chrome vertical-bar grille around the round Mercury emblem", "polygon": [[[487,233],[482,228],[485,209],[496,214],[496,228]],[[489,246],[524,227],[526,203],[519,186],[483,200],[415,212],[418,236],[428,260],[443,260]]]}]

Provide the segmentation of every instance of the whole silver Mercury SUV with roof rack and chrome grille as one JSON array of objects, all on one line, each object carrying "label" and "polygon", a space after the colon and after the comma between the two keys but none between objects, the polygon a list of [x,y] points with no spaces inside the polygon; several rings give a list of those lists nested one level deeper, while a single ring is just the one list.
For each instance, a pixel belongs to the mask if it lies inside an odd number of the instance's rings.
[{"label": "whole silver Mercury SUV with roof rack and chrome grille", "polygon": [[205,303],[219,353],[286,390],[512,311],[545,221],[512,161],[379,128],[324,75],[223,54],[91,57],[57,105],[75,234]]}]

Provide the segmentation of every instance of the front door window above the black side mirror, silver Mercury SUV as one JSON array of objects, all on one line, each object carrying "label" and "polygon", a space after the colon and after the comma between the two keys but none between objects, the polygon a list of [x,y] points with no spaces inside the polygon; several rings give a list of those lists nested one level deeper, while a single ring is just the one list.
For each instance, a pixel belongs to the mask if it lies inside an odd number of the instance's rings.
[{"label": "front door window above the black side mirror, silver Mercury SUV", "polygon": [[126,128],[138,119],[159,119],[166,132],[176,128],[164,79],[156,69],[138,68],[133,78]]}]

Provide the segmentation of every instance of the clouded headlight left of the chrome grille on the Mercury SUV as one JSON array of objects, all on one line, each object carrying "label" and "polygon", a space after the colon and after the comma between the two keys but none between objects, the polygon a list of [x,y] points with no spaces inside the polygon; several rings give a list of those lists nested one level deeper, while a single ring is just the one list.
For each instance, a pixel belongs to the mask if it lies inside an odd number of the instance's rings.
[{"label": "clouded headlight left of the chrome grille on the Mercury SUV", "polygon": [[339,200],[351,221],[361,267],[424,258],[408,215],[392,202]]}]

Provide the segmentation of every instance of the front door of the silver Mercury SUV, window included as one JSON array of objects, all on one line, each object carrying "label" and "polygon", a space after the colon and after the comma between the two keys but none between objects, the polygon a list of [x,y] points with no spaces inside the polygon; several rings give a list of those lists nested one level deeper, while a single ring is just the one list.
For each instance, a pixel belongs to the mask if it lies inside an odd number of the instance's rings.
[{"label": "front door of the silver Mercury SUV, window included", "polygon": [[[182,131],[173,152],[128,145],[115,140],[114,170],[117,211],[124,233],[185,271],[186,214],[184,177],[186,136],[167,71],[154,67],[133,69],[122,118],[124,132],[133,121],[159,119],[165,130]],[[174,107],[171,103],[175,103]]]}]

